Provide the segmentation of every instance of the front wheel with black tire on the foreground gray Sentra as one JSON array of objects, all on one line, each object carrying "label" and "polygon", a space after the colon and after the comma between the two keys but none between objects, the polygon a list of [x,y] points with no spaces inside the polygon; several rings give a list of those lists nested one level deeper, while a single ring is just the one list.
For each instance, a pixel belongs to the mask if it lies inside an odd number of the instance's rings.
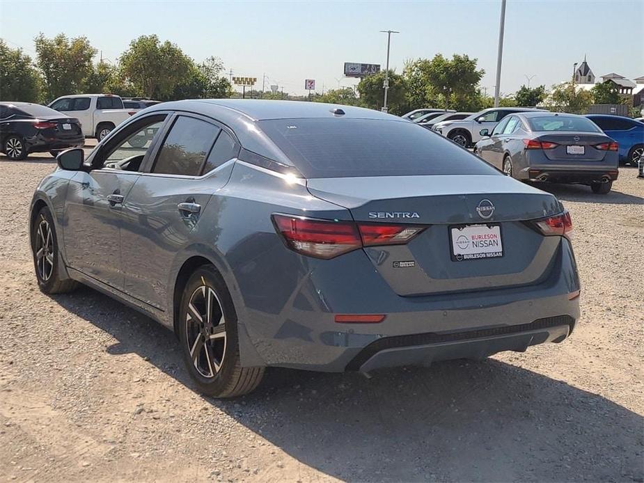
[{"label": "front wheel with black tire on the foreground gray Sentra", "polygon": [[71,278],[61,279],[58,274],[58,239],[49,208],[42,207],[31,225],[31,251],[38,287],[45,294],[64,294],[74,290],[78,283]]}]

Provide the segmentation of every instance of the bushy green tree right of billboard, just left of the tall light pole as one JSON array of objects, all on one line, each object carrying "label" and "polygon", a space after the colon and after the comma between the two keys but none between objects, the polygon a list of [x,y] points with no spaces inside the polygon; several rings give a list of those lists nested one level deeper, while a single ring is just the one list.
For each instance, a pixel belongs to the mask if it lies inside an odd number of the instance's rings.
[{"label": "bushy green tree right of billboard, just left of the tall light pole", "polygon": [[452,59],[437,54],[424,65],[425,79],[432,93],[437,93],[445,109],[460,109],[476,95],[476,86],[485,70],[476,69],[476,58],[454,54]]}]

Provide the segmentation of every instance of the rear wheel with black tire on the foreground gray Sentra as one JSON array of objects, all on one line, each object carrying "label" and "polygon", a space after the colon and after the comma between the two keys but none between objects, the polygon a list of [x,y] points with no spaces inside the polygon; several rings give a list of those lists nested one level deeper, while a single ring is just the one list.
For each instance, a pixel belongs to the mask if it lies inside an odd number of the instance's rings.
[{"label": "rear wheel with black tire on the foreground gray Sentra", "polygon": [[264,367],[241,365],[237,314],[217,269],[212,265],[199,267],[188,279],[180,303],[181,351],[198,390],[214,397],[236,397],[255,389]]}]

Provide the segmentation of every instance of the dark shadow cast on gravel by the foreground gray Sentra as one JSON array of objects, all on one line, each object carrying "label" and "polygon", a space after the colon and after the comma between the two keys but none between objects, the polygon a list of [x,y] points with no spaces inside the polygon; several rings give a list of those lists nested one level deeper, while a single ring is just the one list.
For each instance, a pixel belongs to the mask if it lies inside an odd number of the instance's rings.
[{"label": "dark shadow cast on gravel by the foreground gray Sentra", "polygon": [[[138,354],[194,390],[171,331],[85,287],[55,299],[116,338],[109,354]],[[641,415],[492,358],[380,370],[372,379],[273,369],[251,395],[203,399],[302,464],[341,480],[644,477]]]}]

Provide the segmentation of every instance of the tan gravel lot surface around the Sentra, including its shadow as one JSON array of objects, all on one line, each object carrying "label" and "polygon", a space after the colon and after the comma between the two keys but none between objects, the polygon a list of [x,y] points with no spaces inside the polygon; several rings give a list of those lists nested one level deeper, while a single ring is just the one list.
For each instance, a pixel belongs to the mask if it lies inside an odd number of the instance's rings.
[{"label": "tan gravel lot surface around the Sentra, including its shadow", "polygon": [[28,246],[49,155],[0,158],[0,480],[642,482],[644,180],[549,187],[583,282],[570,340],[482,362],[272,370],[191,388],[175,337],[93,290],[49,297]]}]

